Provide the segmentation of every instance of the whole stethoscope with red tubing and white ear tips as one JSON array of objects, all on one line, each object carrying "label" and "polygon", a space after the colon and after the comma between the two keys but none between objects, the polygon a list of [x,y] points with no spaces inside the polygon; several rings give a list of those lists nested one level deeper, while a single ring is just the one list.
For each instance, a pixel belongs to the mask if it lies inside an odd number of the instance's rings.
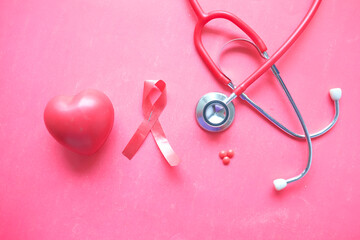
[{"label": "whole stethoscope with red tubing and white ear tips", "polygon": [[[304,120],[300,114],[299,109],[297,108],[292,96],[290,95],[290,92],[288,91],[284,81],[280,77],[279,70],[275,66],[275,62],[279,60],[279,58],[291,47],[291,45],[296,41],[296,39],[300,36],[300,34],[305,30],[307,25],[310,23],[310,20],[315,15],[315,12],[319,8],[319,5],[321,3],[321,0],[314,0],[309,11],[307,12],[304,19],[301,21],[299,26],[295,29],[295,31],[291,34],[291,36],[286,40],[286,42],[272,55],[269,56],[266,52],[267,47],[265,46],[265,43],[262,41],[262,39],[257,35],[257,33],[251,29],[245,22],[243,22],[241,19],[236,17],[234,14],[226,12],[226,11],[212,11],[209,13],[205,13],[197,0],[189,0],[192,8],[195,11],[195,14],[198,17],[198,22],[195,27],[195,33],[194,33],[194,43],[195,47],[200,54],[202,60],[205,62],[211,73],[214,75],[214,77],[220,81],[223,84],[226,84],[232,89],[232,93],[230,96],[226,96],[225,94],[218,93],[218,92],[211,92],[206,95],[204,95],[198,102],[196,106],[196,119],[199,125],[210,132],[220,132],[227,129],[231,123],[234,120],[235,115],[235,107],[232,101],[237,98],[238,96],[245,100],[247,103],[250,104],[254,109],[256,109],[258,112],[260,112],[263,116],[265,116],[271,123],[279,127],[282,131],[286,132],[287,134],[297,137],[297,138],[305,138],[308,145],[308,162],[307,165],[302,173],[300,173],[298,176],[288,178],[288,179],[275,179],[274,180],[274,186],[276,190],[282,190],[284,189],[287,184],[291,182],[295,182],[297,180],[300,180],[303,178],[307,172],[310,169],[311,162],[312,162],[312,143],[311,138],[319,137],[329,131],[334,124],[336,123],[338,117],[339,117],[339,100],[341,98],[341,89],[340,88],[334,88],[330,90],[330,96],[334,101],[335,104],[335,116],[332,120],[332,122],[325,127],[324,129],[320,130],[319,132],[310,135],[307,127],[304,123]],[[225,45],[234,42],[234,41],[245,41],[247,43],[250,43],[252,46],[254,46],[261,57],[266,59],[266,61],[254,72],[252,73],[248,78],[246,78],[240,85],[237,87],[233,84],[231,79],[227,77],[220,69],[220,67],[215,64],[215,62],[212,60],[206,49],[204,48],[204,45],[201,40],[201,34],[204,26],[214,19],[225,19],[233,24],[235,24],[238,28],[240,28],[250,39],[234,39],[230,42],[226,43]],[[284,125],[282,125],[280,122],[275,120],[273,117],[271,117],[268,113],[266,113],[262,108],[260,108],[257,104],[255,104],[245,93],[244,91],[252,84],[254,83],[260,76],[262,76],[268,69],[271,69],[272,73],[277,78],[278,82],[280,83],[282,89],[284,90],[287,98],[289,99],[293,109],[295,110],[295,113],[301,123],[301,126],[304,130],[304,135],[297,134],[288,128],[286,128]]]}]

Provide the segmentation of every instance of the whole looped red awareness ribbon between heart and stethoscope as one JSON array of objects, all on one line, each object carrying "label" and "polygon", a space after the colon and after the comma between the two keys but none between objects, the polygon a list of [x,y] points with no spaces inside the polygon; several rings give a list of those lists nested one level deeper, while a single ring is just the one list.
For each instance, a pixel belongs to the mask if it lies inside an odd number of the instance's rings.
[{"label": "whole looped red awareness ribbon between heart and stethoscope", "polygon": [[[156,91],[160,91],[160,96],[152,104],[151,96]],[[156,144],[170,166],[177,166],[180,163],[180,158],[170,146],[158,119],[165,106],[166,83],[163,80],[146,80],[144,82],[142,105],[144,120],[123,150],[124,156],[129,160],[133,158],[151,131]]]}]

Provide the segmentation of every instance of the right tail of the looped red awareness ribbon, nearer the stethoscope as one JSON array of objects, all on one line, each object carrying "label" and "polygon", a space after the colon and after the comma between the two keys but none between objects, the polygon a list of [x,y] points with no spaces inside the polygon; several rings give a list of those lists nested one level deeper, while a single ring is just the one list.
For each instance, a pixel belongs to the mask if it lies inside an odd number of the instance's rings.
[{"label": "right tail of the looped red awareness ribbon, nearer the stethoscope", "polygon": [[170,164],[170,166],[177,166],[181,162],[178,155],[175,153],[173,148],[171,147],[169,141],[165,136],[165,132],[161,127],[159,121],[156,121],[154,126],[151,129],[151,133],[155,139],[157,146],[159,147],[162,155],[166,159],[166,161]]}]

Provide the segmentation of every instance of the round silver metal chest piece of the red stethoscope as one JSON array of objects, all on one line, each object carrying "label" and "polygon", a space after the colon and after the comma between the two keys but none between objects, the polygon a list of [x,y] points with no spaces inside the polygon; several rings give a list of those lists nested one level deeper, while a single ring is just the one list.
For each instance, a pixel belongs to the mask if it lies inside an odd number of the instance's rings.
[{"label": "round silver metal chest piece of the red stethoscope", "polygon": [[232,102],[224,103],[225,94],[211,92],[204,95],[196,106],[196,120],[199,125],[210,132],[221,132],[230,127],[235,116]]}]

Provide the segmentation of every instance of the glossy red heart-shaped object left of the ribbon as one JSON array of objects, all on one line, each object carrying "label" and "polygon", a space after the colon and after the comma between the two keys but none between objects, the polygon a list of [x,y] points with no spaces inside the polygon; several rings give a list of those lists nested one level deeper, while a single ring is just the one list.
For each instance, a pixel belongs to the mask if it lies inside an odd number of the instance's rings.
[{"label": "glossy red heart-shaped object left of the ribbon", "polygon": [[45,107],[44,121],[50,134],[68,149],[92,154],[109,136],[114,107],[102,92],[88,89],[75,96],[58,96]]}]

